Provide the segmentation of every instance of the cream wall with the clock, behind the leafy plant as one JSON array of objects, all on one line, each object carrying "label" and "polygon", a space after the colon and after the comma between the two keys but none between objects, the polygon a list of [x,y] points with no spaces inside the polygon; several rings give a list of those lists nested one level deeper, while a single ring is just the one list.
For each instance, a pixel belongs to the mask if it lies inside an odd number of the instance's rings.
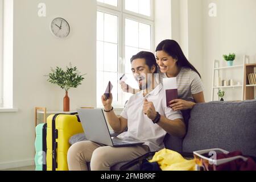
[{"label": "cream wall with the clock, behind the leafy plant", "polygon": [[[47,16],[38,17],[38,3]],[[67,39],[49,31],[53,18],[71,26]],[[0,169],[30,165],[34,159],[34,107],[63,108],[64,91],[47,82],[51,67],[70,62],[86,73],[77,89],[69,91],[71,110],[96,106],[96,0],[14,0],[14,107],[0,113]]]}]

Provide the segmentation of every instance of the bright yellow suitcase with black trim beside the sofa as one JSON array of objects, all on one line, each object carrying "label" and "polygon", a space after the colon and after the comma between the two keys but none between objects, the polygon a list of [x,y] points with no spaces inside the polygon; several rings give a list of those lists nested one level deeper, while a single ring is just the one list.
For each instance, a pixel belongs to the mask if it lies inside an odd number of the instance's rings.
[{"label": "bright yellow suitcase with black trim beside the sofa", "polygon": [[68,171],[67,153],[72,135],[84,133],[77,113],[47,118],[47,171]]}]

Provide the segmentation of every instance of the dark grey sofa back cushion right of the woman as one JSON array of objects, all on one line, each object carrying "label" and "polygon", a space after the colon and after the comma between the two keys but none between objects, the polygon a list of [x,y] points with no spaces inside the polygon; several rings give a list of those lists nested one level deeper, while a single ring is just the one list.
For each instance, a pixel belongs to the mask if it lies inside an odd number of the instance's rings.
[{"label": "dark grey sofa back cushion right of the woman", "polygon": [[197,104],[191,111],[183,152],[210,148],[256,156],[256,100]]}]

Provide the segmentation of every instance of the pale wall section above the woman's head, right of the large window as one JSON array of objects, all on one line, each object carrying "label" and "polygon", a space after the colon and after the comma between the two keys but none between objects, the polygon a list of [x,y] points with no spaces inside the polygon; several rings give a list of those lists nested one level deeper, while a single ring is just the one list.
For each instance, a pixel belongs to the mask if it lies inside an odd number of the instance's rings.
[{"label": "pale wall section above the woman's head, right of the large window", "polygon": [[155,1],[155,44],[174,39],[203,75],[202,0]]}]

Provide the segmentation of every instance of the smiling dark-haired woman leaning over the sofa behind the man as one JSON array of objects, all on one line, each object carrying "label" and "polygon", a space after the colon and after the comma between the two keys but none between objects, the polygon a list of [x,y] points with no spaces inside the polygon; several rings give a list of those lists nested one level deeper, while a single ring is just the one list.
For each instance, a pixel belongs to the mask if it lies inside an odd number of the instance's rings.
[{"label": "smiling dark-haired woman leaning over the sofa behind the man", "polygon": [[[156,47],[156,63],[159,66],[160,81],[177,77],[179,99],[169,102],[173,110],[192,109],[196,103],[205,102],[200,73],[189,63],[175,40],[163,40]],[[121,82],[121,86],[123,91],[129,87],[125,82]]]}]

